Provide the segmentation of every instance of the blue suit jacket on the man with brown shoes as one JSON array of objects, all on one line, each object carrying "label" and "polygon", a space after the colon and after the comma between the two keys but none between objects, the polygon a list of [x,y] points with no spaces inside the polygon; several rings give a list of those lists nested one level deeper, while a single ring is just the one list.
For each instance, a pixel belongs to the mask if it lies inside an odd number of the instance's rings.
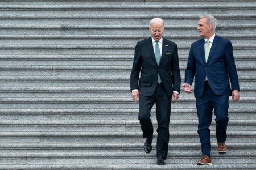
[{"label": "blue suit jacket on the man with brown shoes", "polygon": [[195,97],[203,95],[206,76],[217,95],[231,95],[233,90],[240,90],[231,42],[216,35],[207,62],[204,44],[204,39],[193,42],[185,70],[185,83],[192,85],[195,76]]}]

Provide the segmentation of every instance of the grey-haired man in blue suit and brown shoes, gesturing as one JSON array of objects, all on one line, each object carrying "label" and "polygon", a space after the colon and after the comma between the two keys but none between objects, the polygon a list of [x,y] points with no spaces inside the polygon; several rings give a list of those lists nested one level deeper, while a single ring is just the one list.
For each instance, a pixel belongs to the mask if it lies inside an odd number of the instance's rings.
[{"label": "grey-haired man in blue suit and brown shoes, gesturing", "polygon": [[[191,93],[191,85],[195,77],[194,94],[199,120],[197,132],[203,155],[203,158],[197,162],[199,165],[212,164],[209,126],[212,122],[213,109],[216,116],[218,152],[225,153],[227,151],[225,141],[229,121],[229,96],[232,95],[233,101],[238,101],[240,97],[232,44],[229,40],[214,33],[216,23],[217,19],[212,15],[200,16],[197,30],[203,39],[191,45],[183,84],[184,91]],[[206,59],[205,51],[207,50],[205,49],[208,44],[210,51]]]}]

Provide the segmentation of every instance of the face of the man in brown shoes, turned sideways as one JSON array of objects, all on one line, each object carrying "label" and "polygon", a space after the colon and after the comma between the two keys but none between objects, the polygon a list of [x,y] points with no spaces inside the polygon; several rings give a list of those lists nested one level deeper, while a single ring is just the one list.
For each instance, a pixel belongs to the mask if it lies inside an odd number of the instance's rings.
[{"label": "face of the man in brown shoes, turned sideways", "polygon": [[212,36],[212,25],[207,24],[206,18],[201,18],[197,25],[197,30],[199,31],[199,36],[209,39]]}]

